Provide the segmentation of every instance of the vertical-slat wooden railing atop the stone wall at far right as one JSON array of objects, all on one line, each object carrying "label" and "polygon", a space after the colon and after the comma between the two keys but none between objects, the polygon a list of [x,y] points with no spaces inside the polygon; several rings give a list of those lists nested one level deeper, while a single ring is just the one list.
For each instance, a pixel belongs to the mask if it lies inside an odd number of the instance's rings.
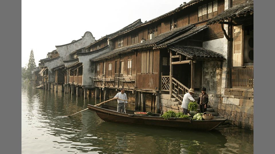
[{"label": "vertical-slat wooden railing atop the stone wall at far right", "polygon": [[231,74],[232,88],[247,88],[254,87],[254,66],[233,67]]}]

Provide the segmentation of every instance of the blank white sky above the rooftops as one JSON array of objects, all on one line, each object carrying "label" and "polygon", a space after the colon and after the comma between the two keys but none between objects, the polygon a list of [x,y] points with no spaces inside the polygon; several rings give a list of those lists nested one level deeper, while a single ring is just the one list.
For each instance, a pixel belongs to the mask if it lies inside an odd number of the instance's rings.
[{"label": "blank white sky above the rooftops", "polygon": [[149,21],[190,0],[24,0],[21,66],[33,49],[36,66],[48,52],[90,31],[96,40],[141,19]]}]

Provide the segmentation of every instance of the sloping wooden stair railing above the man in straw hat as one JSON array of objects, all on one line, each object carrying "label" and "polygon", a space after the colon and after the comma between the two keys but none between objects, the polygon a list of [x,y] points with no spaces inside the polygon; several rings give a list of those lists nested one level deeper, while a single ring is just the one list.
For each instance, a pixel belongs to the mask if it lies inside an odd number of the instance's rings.
[{"label": "sloping wooden stair railing above the man in straw hat", "polygon": [[183,96],[186,92],[189,91],[189,88],[184,86],[178,80],[172,77],[172,97],[176,98],[178,101],[183,100]]}]

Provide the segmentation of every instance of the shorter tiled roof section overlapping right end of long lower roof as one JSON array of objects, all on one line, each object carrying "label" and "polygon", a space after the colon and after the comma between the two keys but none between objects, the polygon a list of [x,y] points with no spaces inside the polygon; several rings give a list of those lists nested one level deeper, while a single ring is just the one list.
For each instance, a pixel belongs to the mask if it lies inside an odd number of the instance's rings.
[{"label": "shorter tiled roof section overlapping right end of long lower roof", "polygon": [[186,33],[183,33],[177,37],[174,37],[172,39],[169,39],[168,41],[162,43],[162,44],[159,44],[159,45],[156,45],[154,46],[154,49],[156,48],[165,48],[169,45],[172,45],[172,44],[175,44],[175,43],[178,43],[186,38],[190,38],[192,37],[193,35],[203,31],[204,29],[207,29],[208,26],[207,25],[203,25],[203,26],[199,26],[199,27],[193,27],[190,31],[187,31]]}]

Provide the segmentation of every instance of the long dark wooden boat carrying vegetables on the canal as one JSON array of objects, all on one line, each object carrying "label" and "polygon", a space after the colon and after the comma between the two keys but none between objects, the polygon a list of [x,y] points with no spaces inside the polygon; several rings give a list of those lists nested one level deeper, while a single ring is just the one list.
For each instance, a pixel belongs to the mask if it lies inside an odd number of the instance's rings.
[{"label": "long dark wooden boat carrying vegetables on the canal", "polygon": [[135,115],[131,110],[126,110],[126,114],[116,112],[117,108],[107,105],[101,105],[101,107],[88,104],[88,108],[95,111],[104,121],[117,122],[117,123],[129,123],[137,125],[148,125],[157,127],[177,127],[184,129],[196,129],[196,130],[212,130],[227,119],[213,118],[211,120],[191,120],[191,118],[169,118],[165,120],[160,117],[161,114],[154,114],[154,116],[141,116]]}]

